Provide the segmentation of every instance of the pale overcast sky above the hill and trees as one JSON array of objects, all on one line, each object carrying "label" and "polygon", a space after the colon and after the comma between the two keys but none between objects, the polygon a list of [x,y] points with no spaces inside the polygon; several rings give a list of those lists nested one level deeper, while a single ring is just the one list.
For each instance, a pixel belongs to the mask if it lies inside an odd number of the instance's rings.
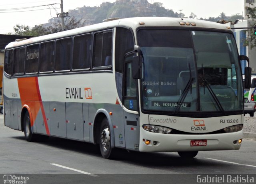
[{"label": "pale overcast sky above the hill and trees", "polygon": [[[63,0],[64,12],[83,6],[100,6],[102,2],[116,0]],[[218,17],[224,12],[226,16],[234,14],[244,15],[244,0],[148,0],[149,3],[160,2],[166,9],[182,12],[189,17],[191,12],[197,18]],[[45,6],[43,6],[45,5]],[[48,6],[46,6],[48,5]],[[28,8],[34,7],[35,8]],[[49,9],[52,8],[52,9]],[[58,9],[53,9],[53,7]],[[21,9],[22,8],[22,9]],[[26,9],[24,9],[26,8]],[[22,11],[22,12],[18,12]],[[30,26],[47,23],[56,17],[60,10],[60,0],[6,0],[0,3],[1,26],[0,34],[14,32],[16,24]]]}]

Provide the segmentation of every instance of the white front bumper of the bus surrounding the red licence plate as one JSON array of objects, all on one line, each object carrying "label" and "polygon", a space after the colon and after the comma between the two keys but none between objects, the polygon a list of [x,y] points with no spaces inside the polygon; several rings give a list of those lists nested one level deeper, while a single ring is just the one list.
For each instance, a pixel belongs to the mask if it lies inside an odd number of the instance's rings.
[{"label": "white front bumper of the bus surrounding the red licence plate", "polygon": [[[208,150],[238,150],[243,131],[221,134],[162,134],[152,133],[140,127],[140,148],[142,152],[170,152],[170,151],[208,151]],[[150,140],[146,144],[145,140]],[[190,146],[191,140],[207,140],[206,146]],[[234,142],[236,141],[236,142]]]}]

